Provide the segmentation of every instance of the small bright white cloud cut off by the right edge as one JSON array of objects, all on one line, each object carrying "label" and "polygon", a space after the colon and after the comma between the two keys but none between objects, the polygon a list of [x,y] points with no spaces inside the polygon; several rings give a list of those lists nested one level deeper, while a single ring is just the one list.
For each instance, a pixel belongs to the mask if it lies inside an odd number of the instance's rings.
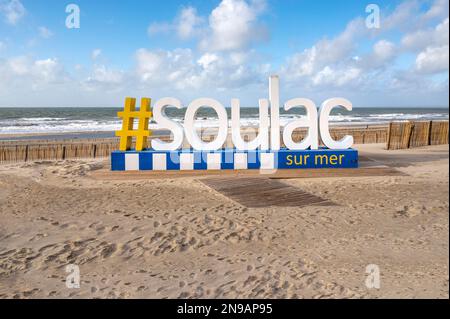
[{"label": "small bright white cloud cut off by the right edge", "polygon": [[448,72],[449,46],[428,47],[416,58],[416,69],[420,73],[433,74]]}]

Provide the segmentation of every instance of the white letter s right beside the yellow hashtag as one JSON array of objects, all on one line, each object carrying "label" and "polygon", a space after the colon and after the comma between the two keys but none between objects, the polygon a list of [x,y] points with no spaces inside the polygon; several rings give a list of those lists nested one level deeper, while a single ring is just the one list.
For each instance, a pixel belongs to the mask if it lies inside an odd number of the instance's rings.
[{"label": "white letter s right beside the yellow hashtag", "polygon": [[183,126],[166,116],[165,110],[168,106],[182,108],[180,101],[171,97],[160,99],[153,107],[153,119],[158,124],[157,129],[168,129],[173,134],[173,141],[170,143],[152,139],[152,148],[156,151],[175,151],[183,144]]}]

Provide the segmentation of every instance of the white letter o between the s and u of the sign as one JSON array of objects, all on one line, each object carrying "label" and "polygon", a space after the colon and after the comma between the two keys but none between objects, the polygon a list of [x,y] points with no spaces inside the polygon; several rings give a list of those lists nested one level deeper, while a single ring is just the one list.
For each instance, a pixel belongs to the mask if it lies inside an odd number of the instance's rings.
[{"label": "white letter o between the s and u of the sign", "polygon": [[[210,143],[204,143],[195,130],[195,114],[202,106],[208,106],[213,108],[219,117],[219,131],[214,141]],[[189,144],[200,151],[215,151],[222,148],[223,144],[227,140],[228,135],[228,115],[227,111],[218,101],[214,99],[201,98],[196,99],[189,104],[186,115],[184,118],[184,131],[186,133],[186,139]]]}]

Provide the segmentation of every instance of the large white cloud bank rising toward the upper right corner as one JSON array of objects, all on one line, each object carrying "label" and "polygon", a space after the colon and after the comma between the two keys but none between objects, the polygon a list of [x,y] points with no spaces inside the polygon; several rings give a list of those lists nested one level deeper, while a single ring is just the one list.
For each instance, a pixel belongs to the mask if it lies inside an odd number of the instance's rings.
[{"label": "large white cloud bank rising toward the upper right corner", "polygon": [[[443,7],[445,4],[437,0],[428,11],[421,12],[418,2],[405,1],[382,17],[381,29],[375,31],[356,18],[334,38],[321,39],[288,57],[281,67],[282,78],[289,86],[304,91],[339,88],[339,94],[349,96],[356,91],[390,92],[393,87],[405,91],[409,87],[433,87],[434,80],[426,77],[448,72],[448,13]],[[430,26],[433,23],[434,27]],[[380,39],[384,34],[391,35],[392,30],[406,32],[400,43]],[[360,52],[357,44],[363,41],[374,41],[370,52]],[[408,52],[419,52],[415,65],[398,69],[394,61]]]}]

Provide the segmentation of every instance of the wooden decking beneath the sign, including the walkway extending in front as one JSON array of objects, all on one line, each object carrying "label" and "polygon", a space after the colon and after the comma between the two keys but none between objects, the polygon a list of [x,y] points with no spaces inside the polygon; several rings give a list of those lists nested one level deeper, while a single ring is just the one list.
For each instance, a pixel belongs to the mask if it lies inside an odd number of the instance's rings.
[{"label": "wooden decking beneath the sign, including the walkway extending in front", "polygon": [[260,170],[222,171],[122,171],[100,169],[90,175],[100,180],[145,180],[195,178],[211,189],[245,207],[304,207],[310,205],[335,205],[333,202],[283,183],[282,179],[336,178],[364,176],[405,176],[406,174],[360,156],[360,168],[356,169],[279,169],[271,174]]}]

